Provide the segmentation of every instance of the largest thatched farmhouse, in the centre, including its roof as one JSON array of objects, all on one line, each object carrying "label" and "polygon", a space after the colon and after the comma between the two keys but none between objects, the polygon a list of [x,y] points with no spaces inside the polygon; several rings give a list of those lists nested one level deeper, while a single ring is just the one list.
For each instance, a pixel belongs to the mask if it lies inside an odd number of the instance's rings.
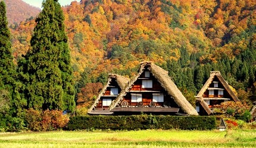
[{"label": "largest thatched farmhouse, in the centre, including its roof", "polygon": [[109,110],[115,115],[170,114],[198,115],[168,72],[152,62],[143,62],[135,78],[127,83]]}]

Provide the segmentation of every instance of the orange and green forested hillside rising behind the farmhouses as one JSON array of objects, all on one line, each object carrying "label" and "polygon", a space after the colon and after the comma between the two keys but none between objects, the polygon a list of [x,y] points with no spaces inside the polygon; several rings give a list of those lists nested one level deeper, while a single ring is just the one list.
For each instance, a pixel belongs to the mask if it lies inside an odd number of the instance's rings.
[{"label": "orange and green forested hillside rising behind the farmhouses", "polygon": [[[238,92],[256,99],[256,1],[82,0],[64,7],[77,98],[90,104],[107,73],[132,76],[143,60],[169,71],[186,98],[211,70]],[[14,57],[26,54],[35,20],[13,34]]]}]

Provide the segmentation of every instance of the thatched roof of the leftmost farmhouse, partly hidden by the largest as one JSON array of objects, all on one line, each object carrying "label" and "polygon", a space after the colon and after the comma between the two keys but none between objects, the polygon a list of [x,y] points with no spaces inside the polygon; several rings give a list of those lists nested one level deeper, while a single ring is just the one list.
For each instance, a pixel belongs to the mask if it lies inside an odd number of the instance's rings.
[{"label": "thatched roof of the leftmost farmhouse, partly hidden by the largest", "polygon": [[113,74],[113,73],[108,74],[107,84],[104,85],[103,88],[101,89],[101,92],[99,92],[99,95],[97,96],[97,98],[93,102],[92,106],[89,108],[88,113],[90,113],[90,111],[92,111],[93,108],[96,107],[96,105],[99,103],[99,101],[101,99],[101,96],[104,95],[104,93],[107,90],[108,86],[110,86],[111,81],[116,81],[118,86],[121,89],[123,89],[126,86],[126,83],[128,83],[130,81],[130,79],[126,78],[124,76]]}]

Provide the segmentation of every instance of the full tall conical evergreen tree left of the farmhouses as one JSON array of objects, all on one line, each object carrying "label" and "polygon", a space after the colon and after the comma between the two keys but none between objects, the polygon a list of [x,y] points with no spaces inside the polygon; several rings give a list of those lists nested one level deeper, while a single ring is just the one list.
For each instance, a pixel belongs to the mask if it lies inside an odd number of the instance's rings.
[{"label": "full tall conical evergreen tree left of the farmhouses", "polygon": [[43,1],[30,41],[32,48],[19,62],[21,92],[27,108],[74,110],[74,82],[64,14],[57,0]]}]

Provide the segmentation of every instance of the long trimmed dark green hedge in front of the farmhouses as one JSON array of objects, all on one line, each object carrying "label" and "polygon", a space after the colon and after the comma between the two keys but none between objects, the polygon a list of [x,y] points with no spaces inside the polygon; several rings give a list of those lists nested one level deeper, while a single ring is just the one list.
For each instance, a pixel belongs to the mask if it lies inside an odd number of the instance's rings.
[{"label": "long trimmed dark green hedge in front of the farmhouses", "polygon": [[67,130],[212,130],[214,116],[122,115],[70,117]]}]

